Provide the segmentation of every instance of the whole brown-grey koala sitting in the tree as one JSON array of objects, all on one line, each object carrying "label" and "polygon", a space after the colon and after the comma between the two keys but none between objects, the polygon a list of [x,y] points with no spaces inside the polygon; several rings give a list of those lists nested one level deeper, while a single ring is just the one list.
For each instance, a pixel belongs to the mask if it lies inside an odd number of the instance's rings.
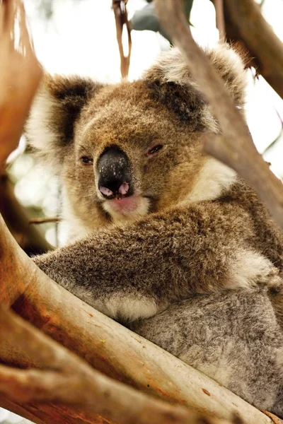
[{"label": "whole brown-grey koala sitting in the tree", "polygon": [[[243,111],[243,61],[227,45],[205,54]],[[253,189],[203,153],[220,131],[178,49],[134,82],[45,76],[25,135],[62,184],[69,240],[34,261],[283,416],[283,237]]]}]

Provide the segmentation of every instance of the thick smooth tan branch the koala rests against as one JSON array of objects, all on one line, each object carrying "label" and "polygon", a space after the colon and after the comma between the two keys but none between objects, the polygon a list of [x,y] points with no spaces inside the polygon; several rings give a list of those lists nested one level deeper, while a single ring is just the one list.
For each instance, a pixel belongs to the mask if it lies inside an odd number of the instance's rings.
[{"label": "thick smooth tan branch the koala rests against", "polygon": [[[18,314],[100,372],[211,418],[229,420],[237,413],[249,424],[271,423],[270,418],[202,372],[93,310],[50,280],[18,247],[1,217],[0,256],[0,302],[13,306]],[[60,363],[51,352],[39,349],[35,355],[30,350],[34,342],[21,331],[21,337],[28,343],[25,348],[24,341],[11,338],[13,332],[10,327],[6,338],[1,329],[1,363],[21,368],[42,367],[45,365],[42,355],[47,355],[53,358],[52,370],[60,369]],[[62,360],[64,362],[64,357]],[[0,397],[0,404],[6,405],[5,396]],[[45,417],[52,417],[53,408],[52,405],[45,408]],[[53,422],[64,421],[53,419]],[[88,422],[91,422],[89,418]],[[93,420],[93,423],[99,421]]]}]

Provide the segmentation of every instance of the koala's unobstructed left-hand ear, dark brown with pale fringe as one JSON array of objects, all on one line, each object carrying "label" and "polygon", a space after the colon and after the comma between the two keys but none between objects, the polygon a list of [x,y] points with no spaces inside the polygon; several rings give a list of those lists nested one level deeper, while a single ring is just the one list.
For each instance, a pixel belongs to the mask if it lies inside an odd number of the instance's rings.
[{"label": "koala's unobstructed left-hand ear, dark brown with pale fringe", "polygon": [[91,78],[43,78],[24,130],[37,155],[52,165],[62,163],[65,147],[73,141],[76,119],[99,88]]}]

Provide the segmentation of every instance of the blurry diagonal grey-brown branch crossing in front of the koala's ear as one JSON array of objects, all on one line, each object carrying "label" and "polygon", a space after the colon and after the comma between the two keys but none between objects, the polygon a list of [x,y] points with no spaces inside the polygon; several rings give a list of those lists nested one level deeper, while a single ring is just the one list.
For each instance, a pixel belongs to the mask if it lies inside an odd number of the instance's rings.
[{"label": "blurry diagonal grey-brown branch crossing in front of the koala's ear", "polygon": [[193,78],[201,87],[223,131],[223,136],[206,137],[204,151],[245,178],[283,229],[282,183],[256,150],[241,112],[233,104],[209,59],[193,40],[183,14],[182,0],[156,0],[156,8],[164,28],[183,52]]}]

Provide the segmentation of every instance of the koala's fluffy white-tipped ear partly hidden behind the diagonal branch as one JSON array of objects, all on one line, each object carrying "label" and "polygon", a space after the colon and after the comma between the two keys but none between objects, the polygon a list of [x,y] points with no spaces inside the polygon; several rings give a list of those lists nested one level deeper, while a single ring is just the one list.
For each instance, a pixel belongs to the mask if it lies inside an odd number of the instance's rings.
[{"label": "koala's fluffy white-tipped ear partly hidden behind the diagonal branch", "polygon": [[[227,44],[219,44],[214,49],[205,49],[212,65],[231,94],[238,107],[243,107],[247,76],[243,60],[236,51]],[[197,110],[205,107],[206,102],[178,49],[173,48],[161,54],[160,59],[144,74],[149,88],[156,91],[155,97],[166,103],[180,117],[194,119]],[[186,118],[187,114],[187,118]],[[200,114],[195,116],[200,122]],[[207,119],[205,119],[207,122]]]}]

